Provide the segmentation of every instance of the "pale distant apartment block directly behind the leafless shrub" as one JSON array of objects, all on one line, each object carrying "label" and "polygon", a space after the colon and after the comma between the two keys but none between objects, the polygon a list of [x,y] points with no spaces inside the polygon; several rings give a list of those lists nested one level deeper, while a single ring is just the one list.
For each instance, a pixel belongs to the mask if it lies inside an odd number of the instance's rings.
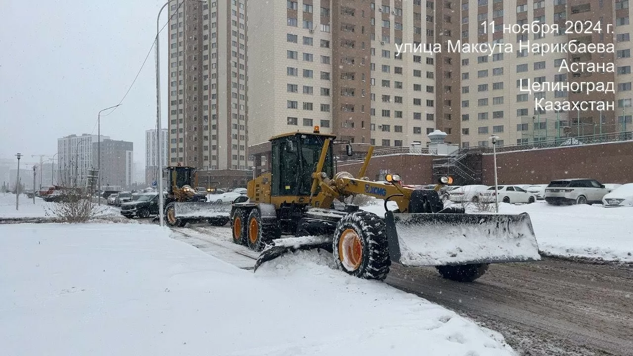
[{"label": "pale distant apartment block directly behind the leafless shrub", "polygon": [[[106,139],[110,139],[110,137],[101,136],[102,149],[103,141]],[[90,134],[82,134],[81,136],[70,135],[57,139],[58,184],[85,181],[88,170],[97,168],[97,152],[94,151],[93,153],[92,148],[97,149],[98,141],[97,135]]]}]

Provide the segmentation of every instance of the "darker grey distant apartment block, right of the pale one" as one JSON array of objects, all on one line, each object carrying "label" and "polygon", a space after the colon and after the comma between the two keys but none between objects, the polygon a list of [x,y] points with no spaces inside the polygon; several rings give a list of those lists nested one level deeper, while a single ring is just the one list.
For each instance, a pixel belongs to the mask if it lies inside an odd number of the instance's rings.
[{"label": "darker grey distant apartment block, right of the pale one", "polygon": [[[97,143],[92,144],[92,160],[97,162]],[[101,141],[101,189],[124,189],[134,182],[134,143]]]}]

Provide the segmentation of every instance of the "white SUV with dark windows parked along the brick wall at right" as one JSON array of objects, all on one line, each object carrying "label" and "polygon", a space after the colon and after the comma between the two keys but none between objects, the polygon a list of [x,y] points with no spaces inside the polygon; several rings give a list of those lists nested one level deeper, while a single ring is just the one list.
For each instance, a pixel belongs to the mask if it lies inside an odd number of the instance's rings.
[{"label": "white SUV with dark windows parked along the brick wall at right", "polygon": [[610,190],[595,179],[559,179],[545,188],[545,201],[552,205],[601,203]]}]

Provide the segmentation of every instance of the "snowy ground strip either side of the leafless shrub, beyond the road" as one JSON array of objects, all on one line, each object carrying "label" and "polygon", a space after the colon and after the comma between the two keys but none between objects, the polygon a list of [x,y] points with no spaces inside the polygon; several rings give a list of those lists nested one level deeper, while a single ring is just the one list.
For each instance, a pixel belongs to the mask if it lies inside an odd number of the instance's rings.
[{"label": "snowy ground strip either side of the leafless shrub, beyond the road", "polygon": [[[20,201],[18,204],[18,210],[15,209],[15,194],[13,193],[0,193],[0,219],[2,218],[43,218],[43,217],[55,217],[51,208],[55,203],[47,203],[42,198],[35,197],[35,204],[33,198],[28,198],[25,194],[20,194]],[[112,207],[104,205],[99,208],[99,215],[119,215],[118,210]]]}]

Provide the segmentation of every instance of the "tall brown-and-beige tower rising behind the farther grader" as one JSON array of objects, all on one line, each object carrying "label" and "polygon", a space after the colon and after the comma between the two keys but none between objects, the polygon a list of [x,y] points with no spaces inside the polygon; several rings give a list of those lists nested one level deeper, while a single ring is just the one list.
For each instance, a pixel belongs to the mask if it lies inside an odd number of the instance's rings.
[{"label": "tall brown-and-beige tower rising behind the farther grader", "polygon": [[250,175],[246,0],[173,1],[168,13],[168,163]]}]

